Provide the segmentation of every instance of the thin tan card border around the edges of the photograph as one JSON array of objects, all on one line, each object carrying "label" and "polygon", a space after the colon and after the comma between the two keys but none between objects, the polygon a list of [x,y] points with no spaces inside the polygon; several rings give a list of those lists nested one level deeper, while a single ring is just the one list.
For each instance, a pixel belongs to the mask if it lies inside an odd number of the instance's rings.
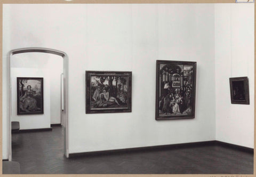
[{"label": "thin tan card border around the edges of the photograph", "polygon": [[[205,0],[194,0],[194,1],[191,1],[191,2],[188,2],[188,1],[185,1],[185,0],[181,0],[181,1],[178,1],[178,0],[165,0],[165,1],[161,1],[161,2],[159,2],[159,1],[155,1],[155,0],[152,0],[152,1],[145,1],[145,2],[138,2],[138,1],[127,1],[127,0],[121,0],[120,2],[117,2],[117,1],[106,1],[106,2],[103,2],[102,0],[101,1],[92,1],[92,0],[88,0],[88,1],[86,1],[86,2],[82,2],[82,0],[74,0],[74,1],[61,1],[61,0],[42,0],[42,2],[38,2],[38,1],[35,1],[35,0],[3,0],[2,1],[2,3],[1,3],[1,5],[3,6],[3,4],[10,4],[10,3],[17,3],[17,4],[26,4],[26,3],[34,3],[34,4],[46,4],[46,3],[48,3],[48,4],[52,4],[52,3],[56,3],[56,4],[76,4],[76,3],[82,3],[82,4],[84,4],[84,3],[109,3],[109,4],[113,4],[113,3],[138,3],[138,4],[140,4],[140,3],[161,3],[161,4],[163,4],[163,3],[178,3],[178,4],[181,4],[181,3],[188,3],[188,4],[191,4],[191,3],[204,3],[204,4],[206,4],[206,3],[231,3],[231,4],[234,4],[235,3],[235,1],[232,1],[232,0],[222,0],[222,1],[217,1],[217,0],[209,0],[209,1],[205,1]],[[256,4],[254,4],[254,8],[256,8]],[[1,11],[3,12],[3,8],[1,9]],[[2,13],[0,14],[0,16],[2,17]],[[1,20],[2,20],[2,18],[1,18]],[[255,24],[256,24],[256,11],[254,11],[254,22],[255,22]],[[1,22],[1,24],[2,24],[2,26],[3,26],[3,21]],[[254,25],[255,27],[256,27],[256,25]],[[254,42],[256,41],[256,30],[255,30],[256,28],[254,28],[254,37],[253,37],[253,40],[254,40]],[[2,29],[0,29],[0,31],[2,31]],[[1,43],[3,44],[3,36],[1,36]],[[256,50],[256,45],[253,47],[254,48],[254,50]],[[0,49],[1,50],[1,52],[3,52],[3,49]],[[4,60],[4,58],[5,57],[3,57],[3,55],[2,55],[2,60]],[[253,57],[253,59],[255,60],[256,59],[256,55]],[[0,63],[0,66],[3,66],[3,63],[1,62]],[[253,90],[253,94],[254,95],[256,95],[255,93],[256,93],[256,70],[255,70],[255,68],[256,68],[256,62],[254,62],[254,70],[253,70],[253,75],[254,75],[254,78],[253,78],[253,81],[254,81],[254,88],[252,89]],[[1,69],[0,69],[1,71],[3,70],[3,68],[1,67]],[[2,73],[1,72],[1,74],[0,74],[0,76],[4,76],[4,73]],[[1,77],[1,79],[0,79],[0,85],[1,85],[1,87],[0,87],[0,92],[1,92],[1,94],[0,94],[0,98],[2,98],[3,97],[3,88],[2,88],[2,86],[3,86],[3,78]],[[254,99],[254,101],[253,101],[253,103],[255,104],[256,103],[256,96],[254,96],[254,95],[252,95],[253,96],[253,98],[255,98]],[[255,117],[256,117],[256,109],[254,109],[254,116],[253,116],[253,118],[255,119]],[[3,113],[3,109],[2,109],[2,106],[0,107],[0,113],[2,114]],[[2,117],[2,119],[3,119],[3,117]],[[253,123],[253,125],[254,125],[254,128],[253,128],[253,130],[255,130],[255,126],[256,126],[256,124],[255,124],[256,122],[254,121],[254,123]],[[1,123],[0,123],[0,125],[1,126],[3,126],[3,123],[2,123],[2,121],[1,121]],[[3,131],[4,132],[4,131]],[[0,133],[0,135],[1,136],[5,136],[5,134],[3,133],[3,132],[1,132]],[[254,131],[254,148],[256,147],[255,146],[255,144],[256,144],[256,139],[255,139],[255,137],[256,137],[256,131]],[[4,143],[3,143],[3,141],[1,142],[1,144],[2,145],[4,145]],[[1,152],[3,151],[3,149],[1,150]],[[3,158],[3,154],[1,154],[1,157]],[[256,155],[254,154],[254,166],[253,166],[253,169],[254,169],[254,173],[255,173],[255,171],[256,171],[256,165],[255,165],[255,160],[256,160]],[[3,159],[3,160],[8,160],[8,159]],[[229,161],[228,161],[229,162]],[[38,174],[37,174],[38,175]],[[58,174],[48,174],[49,176],[58,176]],[[84,176],[84,175],[86,175],[86,176],[97,176],[97,174],[62,174],[63,176]],[[122,174],[115,174],[116,176],[122,176]],[[154,176],[164,176],[164,174],[153,174]],[[188,176],[188,174],[169,174],[170,176]],[[230,174],[189,174],[190,176],[224,176],[224,175],[230,175]],[[253,176],[252,174],[239,174],[240,176]],[[17,175],[15,175],[15,174],[13,174],[13,175],[11,175],[11,176],[17,176]],[[40,176],[40,175],[38,175],[38,176]]]}]

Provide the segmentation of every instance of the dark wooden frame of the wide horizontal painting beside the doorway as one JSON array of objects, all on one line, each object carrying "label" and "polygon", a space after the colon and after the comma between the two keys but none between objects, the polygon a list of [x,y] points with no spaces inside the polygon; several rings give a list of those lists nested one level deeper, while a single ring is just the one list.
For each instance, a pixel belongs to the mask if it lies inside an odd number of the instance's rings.
[{"label": "dark wooden frame of the wide horizontal painting beside the doorway", "polygon": [[[127,76],[128,77],[128,103],[127,108],[102,108],[102,109],[90,109],[91,102],[91,76]],[[131,112],[132,111],[132,72],[131,71],[85,71],[85,87],[86,87],[86,114],[96,114],[96,113],[116,113],[116,112]]]}]

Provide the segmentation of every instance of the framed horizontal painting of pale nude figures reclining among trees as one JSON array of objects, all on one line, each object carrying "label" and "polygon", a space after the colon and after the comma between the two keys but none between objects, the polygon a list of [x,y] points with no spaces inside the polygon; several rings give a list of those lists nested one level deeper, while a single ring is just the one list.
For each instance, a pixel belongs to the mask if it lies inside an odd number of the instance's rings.
[{"label": "framed horizontal painting of pale nude figures reclining among trees", "polygon": [[131,71],[85,71],[86,114],[132,111]]}]

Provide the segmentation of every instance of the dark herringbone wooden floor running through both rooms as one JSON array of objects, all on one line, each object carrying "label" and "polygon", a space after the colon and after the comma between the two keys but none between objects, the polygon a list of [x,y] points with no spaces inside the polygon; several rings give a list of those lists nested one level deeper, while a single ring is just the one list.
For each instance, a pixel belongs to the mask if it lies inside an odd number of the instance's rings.
[{"label": "dark herringbone wooden floor running through both rooms", "polygon": [[253,154],[219,145],[66,158],[63,128],[12,135],[22,174],[253,174]]}]

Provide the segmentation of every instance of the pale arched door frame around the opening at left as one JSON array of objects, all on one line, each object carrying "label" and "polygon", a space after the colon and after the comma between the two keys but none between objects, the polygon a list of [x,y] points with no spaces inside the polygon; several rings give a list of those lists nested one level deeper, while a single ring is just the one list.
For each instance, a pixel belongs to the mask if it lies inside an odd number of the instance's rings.
[{"label": "pale arched door frame around the opening at left", "polygon": [[9,138],[9,148],[8,148],[8,159],[9,161],[12,160],[12,127],[11,127],[11,65],[10,60],[11,56],[14,54],[19,53],[28,53],[28,52],[41,52],[41,53],[51,53],[55,55],[59,55],[63,58],[63,91],[64,91],[64,110],[62,112],[62,126],[64,128],[64,154],[68,158],[68,55],[65,52],[54,50],[54,49],[47,49],[42,47],[28,47],[22,49],[15,49],[11,50],[7,56],[7,85],[8,85],[8,95],[7,95],[7,102],[8,102],[8,138]]}]

